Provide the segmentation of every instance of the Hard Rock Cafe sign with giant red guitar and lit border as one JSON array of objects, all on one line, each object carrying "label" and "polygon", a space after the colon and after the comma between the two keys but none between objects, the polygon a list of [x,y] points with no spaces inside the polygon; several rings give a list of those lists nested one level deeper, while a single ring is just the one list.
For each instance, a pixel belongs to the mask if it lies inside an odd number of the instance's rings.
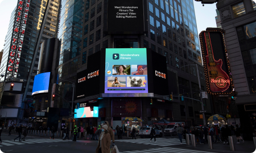
[{"label": "Hard Rock Cafe sign with giant red guitar and lit border", "polygon": [[215,95],[231,94],[233,92],[232,76],[222,32],[202,31],[200,44],[207,91]]}]

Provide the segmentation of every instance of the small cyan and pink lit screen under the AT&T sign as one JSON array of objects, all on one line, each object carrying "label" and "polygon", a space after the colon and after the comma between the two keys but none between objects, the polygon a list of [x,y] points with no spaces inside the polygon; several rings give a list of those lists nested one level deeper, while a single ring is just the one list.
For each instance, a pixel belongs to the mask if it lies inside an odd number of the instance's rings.
[{"label": "small cyan and pink lit screen under the AT&T sign", "polygon": [[98,117],[98,107],[80,107],[75,109],[74,118]]}]

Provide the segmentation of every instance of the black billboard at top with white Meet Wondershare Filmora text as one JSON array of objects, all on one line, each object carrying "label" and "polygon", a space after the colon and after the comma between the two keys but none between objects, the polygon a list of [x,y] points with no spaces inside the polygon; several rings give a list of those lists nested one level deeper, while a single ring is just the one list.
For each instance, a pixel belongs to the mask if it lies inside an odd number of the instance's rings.
[{"label": "black billboard at top with white Meet Wondershare Filmora text", "polygon": [[143,7],[143,0],[109,0],[108,33],[143,34],[146,15]]}]

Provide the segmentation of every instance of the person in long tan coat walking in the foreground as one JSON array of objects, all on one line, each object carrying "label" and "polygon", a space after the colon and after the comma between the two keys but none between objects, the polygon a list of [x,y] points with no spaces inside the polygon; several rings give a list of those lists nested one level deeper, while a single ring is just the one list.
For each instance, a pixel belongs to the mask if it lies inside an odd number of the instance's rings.
[{"label": "person in long tan coat walking in the foreground", "polygon": [[[110,127],[105,124],[102,126],[101,135],[98,138],[98,147],[96,148],[96,153],[109,153],[111,144],[111,134],[109,133]],[[113,132],[113,130],[112,130]]]}]

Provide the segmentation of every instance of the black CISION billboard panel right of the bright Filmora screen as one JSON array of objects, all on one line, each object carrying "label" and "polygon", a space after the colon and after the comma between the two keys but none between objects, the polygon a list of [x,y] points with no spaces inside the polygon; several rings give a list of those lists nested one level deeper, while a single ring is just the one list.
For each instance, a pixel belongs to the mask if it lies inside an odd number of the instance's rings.
[{"label": "black CISION billboard panel right of the bright Filmora screen", "polygon": [[147,49],[148,93],[168,95],[168,75],[166,57]]}]

